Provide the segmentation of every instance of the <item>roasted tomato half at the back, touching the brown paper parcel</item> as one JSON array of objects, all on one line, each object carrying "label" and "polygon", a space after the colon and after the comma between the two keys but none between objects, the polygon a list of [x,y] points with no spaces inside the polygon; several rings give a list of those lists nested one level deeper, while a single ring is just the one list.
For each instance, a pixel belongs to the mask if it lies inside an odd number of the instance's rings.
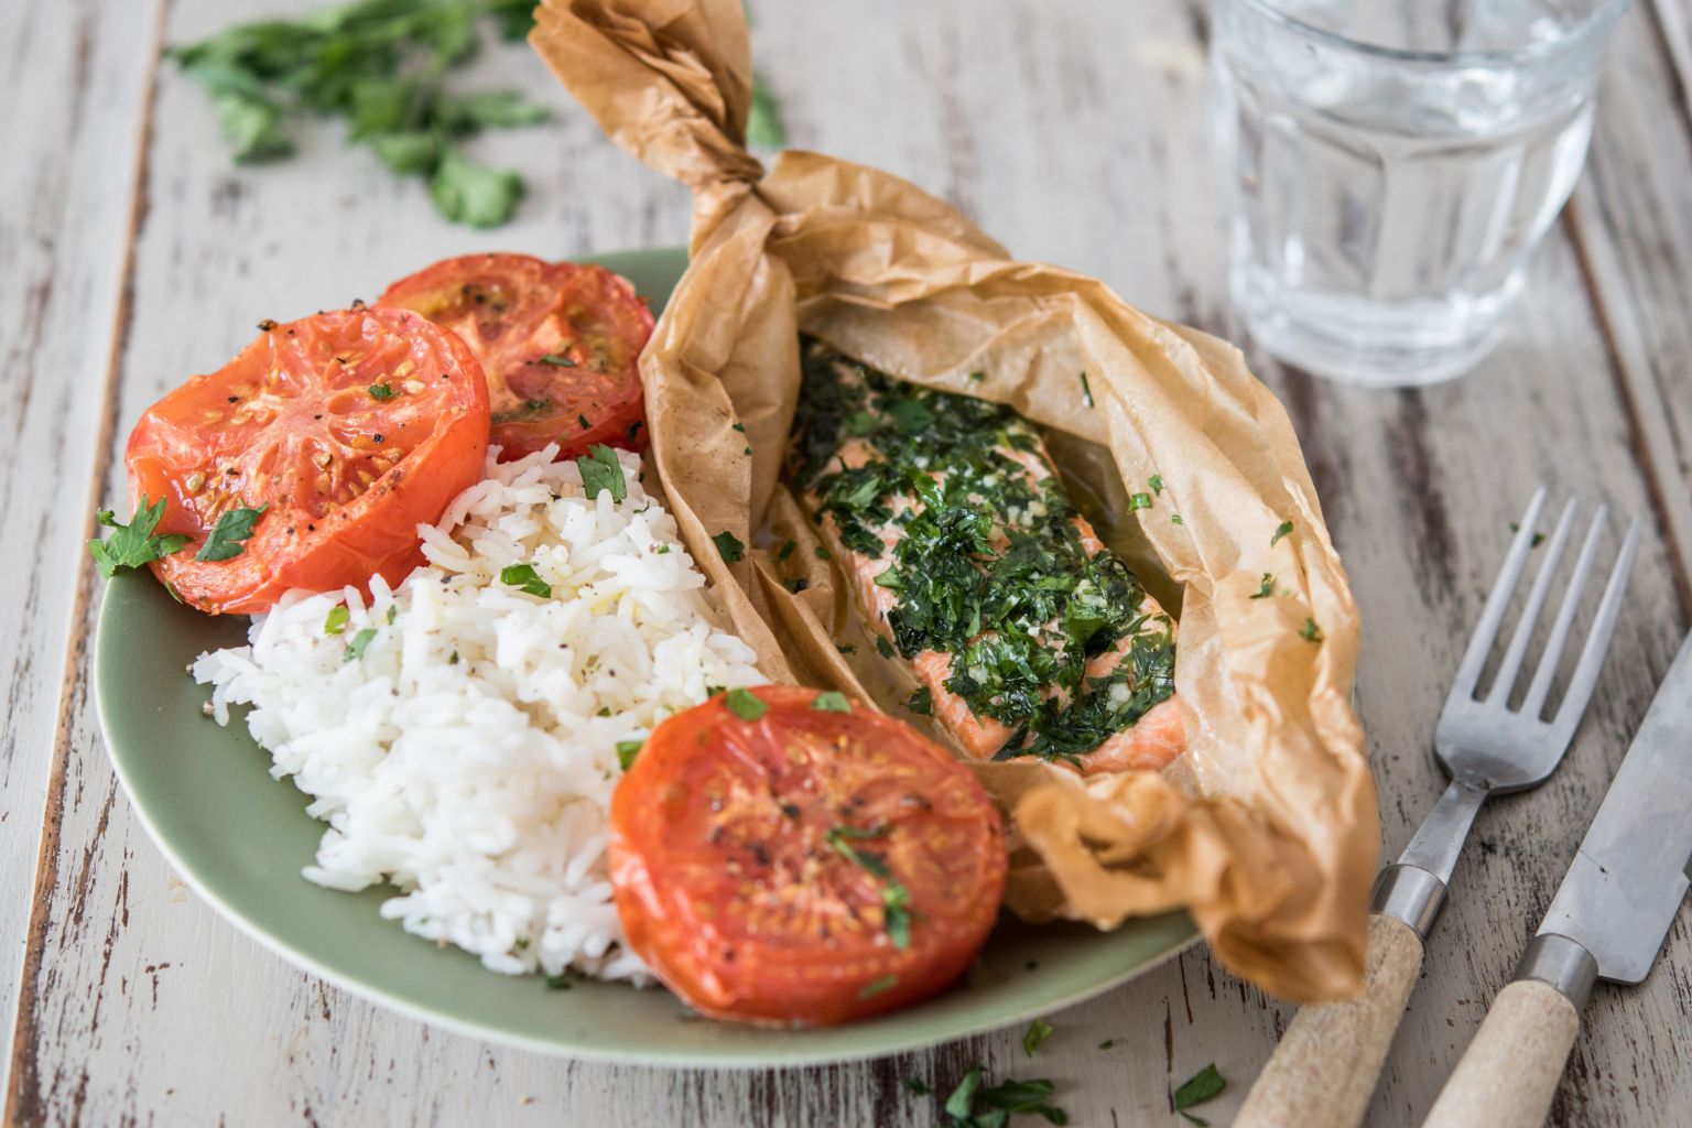
[{"label": "roasted tomato half at the back, touching the brown paper parcel", "polygon": [[416,309],[482,362],[501,460],[547,443],[641,450],[640,353],[651,309],[611,271],[530,255],[464,255],[399,279],[379,306]]}]

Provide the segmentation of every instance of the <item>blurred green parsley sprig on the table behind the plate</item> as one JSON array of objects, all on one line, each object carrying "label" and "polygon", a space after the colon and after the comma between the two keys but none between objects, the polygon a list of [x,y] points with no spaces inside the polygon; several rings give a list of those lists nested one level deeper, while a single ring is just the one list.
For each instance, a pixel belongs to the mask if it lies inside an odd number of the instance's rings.
[{"label": "blurred green parsley sprig on the table behind the plate", "polygon": [[293,117],[340,117],[350,142],[426,179],[448,220],[497,227],[523,196],[523,178],[470,161],[459,142],[540,122],[547,110],[511,90],[450,91],[445,74],[477,52],[484,19],[521,39],[533,8],[533,0],[355,0],[298,20],[239,24],[169,56],[212,95],[237,162],[289,156]]}]

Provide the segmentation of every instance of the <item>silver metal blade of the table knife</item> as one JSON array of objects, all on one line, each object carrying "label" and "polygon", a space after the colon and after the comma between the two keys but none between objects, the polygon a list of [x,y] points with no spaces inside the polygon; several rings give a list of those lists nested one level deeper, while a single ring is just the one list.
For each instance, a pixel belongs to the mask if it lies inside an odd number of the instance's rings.
[{"label": "silver metal blade of the table knife", "polygon": [[1685,898],[1689,866],[1692,636],[1658,687],[1536,937],[1574,940],[1601,977],[1640,983]]}]

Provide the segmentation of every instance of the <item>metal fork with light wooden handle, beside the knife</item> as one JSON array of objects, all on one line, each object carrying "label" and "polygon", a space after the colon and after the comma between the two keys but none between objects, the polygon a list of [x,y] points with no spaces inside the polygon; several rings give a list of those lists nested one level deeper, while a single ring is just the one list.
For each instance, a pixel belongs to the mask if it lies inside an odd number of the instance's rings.
[{"label": "metal fork with light wooden handle, beside the knife", "polygon": [[1486,695],[1479,695],[1480,673],[1526,570],[1528,555],[1538,541],[1535,528],[1543,507],[1545,487],[1540,487],[1504,556],[1504,567],[1487,595],[1480,622],[1469,638],[1469,649],[1464,651],[1433,731],[1435,758],[1450,776],[1450,786],[1423,819],[1399,859],[1382,869],[1376,881],[1364,993],[1347,1003],[1306,1006],[1293,1018],[1245,1098],[1233,1128],[1355,1128],[1362,1121],[1381,1064],[1404,1015],[1409,989],[1421,972],[1423,945],[1445,905],[1445,890],[1475,813],[1492,795],[1524,791],[1543,783],[1574,739],[1616,629],[1628,573],[1638,551],[1640,523],[1634,521],[1628,529],[1568,687],[1557,712],[1546,720],[1543,710],[1552,680],[1606,526],[1602,506],[1587,531],[1521,705],[1511,709],[1509,700],[1558,560],[1568,545],[1577,511],[1572,499],[1552,533],[1497,675]]}]

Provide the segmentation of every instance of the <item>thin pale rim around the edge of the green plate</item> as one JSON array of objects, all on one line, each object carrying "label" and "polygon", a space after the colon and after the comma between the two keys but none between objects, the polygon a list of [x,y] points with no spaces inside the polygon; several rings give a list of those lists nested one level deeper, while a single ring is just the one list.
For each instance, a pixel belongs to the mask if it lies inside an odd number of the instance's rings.
[{"label": "thin pale rim around the edge of the green plate", "polygon": [[[601,252],[592,255],[580,255],[579,262],[599,262],[618,269],[616,264],[628,262],[643,257],[680,257],[685,262],[685,247],[641,247],[641,249],[624,249],[613,252]],[[893,1054],[904,1054],[912,1050],[927,1049],[932,1045],[941,1045],[944,1042],[954,1042],[959,1038],[968,1038],[995,1030],[1003,1030],[1015,1027],[1019,1023],[1029,1021],[1032,1018],[1051,1015],[1052,1011],[1074,1006],[1086,999],[1096,998],[1122,986],[1123,983],[1135,979],[1147,971],[1169,962],[1181,952],[1188,950],[1201,939],[1200,930],[1193,925],[1191,918],[1186,920],[1186,934],[1166,947],[1145,956],[1144,959],[1103,976],[1085,986],[1076,986],[1068,991],[1056,993],[1049,998],[1030,1001],[1027,1005],[1012,1006],[1000,1016],[995,1016],[986,1025],[980,1025],[970,1020],[959,1021],[956,1028],[917,1028],[910,1033],[898,1035],[897,1032],[888,1032],[888,1037],[875,1042],[873,1045],[858,1047],[827,1047],[817,1045],[816,1049],[805,1049],[800,1042],[794,1049],[783,1049],[778,1055],[772,1055],[766,1049],[751,1052],[731,1052],[724,1055],[697,1054],[685,1049],[665,1049],[662,1045],[645,1049],[640,1052],[619,1050],[619,1049],[602,1049],[589,1042],[560,1042],[557,1038],[538,1038],[528,1033],[514,1032],[511,1028],[484,1023],[470,1018],[462,1018],[452,1015],[445,1010],[433,1008],[426,1003],[420,1003],[403,993],[396,993],[381,986],[376,986],[357,974],[342,972],[333,966],[323,962],[318,956],[301,949],[299,945],[274,935],[266,928],[264,923],[255,920],[245,910],[230,903],[220,896],[212,884],[198,873],[195,862],[173,844],[171,837],[159,830],[154,820],[154,812],[151,807],[137,798],[137,790],[132,785],[129,769],[125,768],[125,756],[118,753],[118,741],[112,739],[113,714],[115,705],[110,697],[115,693],[115,687],[108,685],[105,670],[108,663],[105,661],[105,648],[102,646],[105,639],[107,614],[113,600],[113,594],[122,589],[125,582],[132,582],[140,577],[115,577],[105,583],[105,590],[100,599],[100,614],[95,621],[95,639],[90,648],[90,675],[93,682],[93,698],[95,714],[100,722],[100,739],[105,744],[107,763],[112,764],[112,771],[124,790],[124,800],[129,803],[135,819],[140,822],[142,829],[147,832],[149,841],[164,856],[166,864],[169,864],[173,874],[181,879],[195,895],[205,901],[222,920],[232,923],[242,935],[259,944],[259,947],[269,950],[271,954],[281,957],[284,962],[299,967],[318,979],[335,984],[342,991],[354,994],[360,999],[374,1003],[381,1008],[398,1011],[406,1018],[420,1021],[426,1027],[435,1027],[442,1030],[450,1030],[464,1037],[477,1038],[482,1042],[494,1042],[499,1045],[509,1045],[521,1050],[530,1050],[536,1054],[545,1054],[548,1057],[563,1057],[570,1060],[599,1062],[599,1064],[616,1064],[616,1065],[643,1065],[643,1067],[660,1067],[660,1069],[783,1069],[799,1065],[822,1065],[834,1062],[861,1062],[880,1057],[888,1057]],[[151,577],[146,577],[151,582]],[[250,734],[244,734],[250,739]],[[254,741],[257,746],[257,742]],[[274,786],[289,786],[284,780],[274,780]],[[142,788],[144,790],[144,788]],[[305,878],[299,878],[301,881]],[[418,940],[421,942],[421,940]],[[496,972],[487,972],[496,974]],[[629,988],[641,989],[641,988]],[[662,984],[655,984],[651,989],[663,989]],[[964,988],[966,989],[966,988]],[[677,999],[680,1003],[680,999]],[[922,1005],[919,1003],[917,1008]],[[700,1021],[711,1021],[700,1018]],[[848,1030],[853,1023],[844,1023],[841,1027],[822,1027],[817,1030]]]}]

